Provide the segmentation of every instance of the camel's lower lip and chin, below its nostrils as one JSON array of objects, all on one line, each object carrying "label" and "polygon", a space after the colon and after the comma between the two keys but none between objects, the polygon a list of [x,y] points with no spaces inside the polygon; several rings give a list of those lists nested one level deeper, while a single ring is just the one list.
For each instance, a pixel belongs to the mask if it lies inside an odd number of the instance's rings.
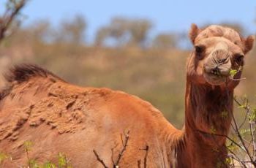
[{"label": "camel's lower lip and chin, below its nostrils", "polygon": [[203,77],[206,79],[206,82],[210,85],[222,85],[227,81],[227,76],[218,75],[212,72],[204,72]]}]

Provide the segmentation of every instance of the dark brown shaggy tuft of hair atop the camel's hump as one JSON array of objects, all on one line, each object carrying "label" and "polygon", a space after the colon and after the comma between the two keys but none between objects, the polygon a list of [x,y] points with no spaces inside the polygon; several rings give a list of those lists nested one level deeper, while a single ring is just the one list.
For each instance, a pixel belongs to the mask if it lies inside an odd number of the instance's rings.
[{"label": "dark brown shaggy tuft of hair atop the camel's hump", "polygon": [[64,81],[52,72],[34,64],[20,64],[13,66],[9,72],[4,75],[5,80],[9,83],[23,83],[29,81],[33,77],[52,77],[56,80]]}]

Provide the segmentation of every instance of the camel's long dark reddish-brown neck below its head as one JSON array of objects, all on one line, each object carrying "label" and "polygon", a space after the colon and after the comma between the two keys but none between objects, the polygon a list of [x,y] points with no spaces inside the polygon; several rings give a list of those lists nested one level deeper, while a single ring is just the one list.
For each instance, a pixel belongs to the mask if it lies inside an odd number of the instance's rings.
[{"label": "camel's long dark reddish-brown neck below its head", "polygon": [[185,104],[186,148],[177,153],[177,159],[187,158],[188,167],[226,167],[225,136],[231,124],[233,91],[187,83]]}]

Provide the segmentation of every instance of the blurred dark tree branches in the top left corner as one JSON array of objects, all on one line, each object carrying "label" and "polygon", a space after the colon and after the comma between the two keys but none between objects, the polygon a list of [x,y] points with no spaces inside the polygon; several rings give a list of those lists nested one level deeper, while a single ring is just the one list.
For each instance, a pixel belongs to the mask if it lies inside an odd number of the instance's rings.
[{"label": "blurred dark tree branches in the top left corner", "polygon": [[7,34],[11,34],[10,27],[12,25],[19,24],[18,20],[20,9],[22,9],[28,0],[8,0],[6,2],[6,8],[4,14],[0,16],[0,42]]}]

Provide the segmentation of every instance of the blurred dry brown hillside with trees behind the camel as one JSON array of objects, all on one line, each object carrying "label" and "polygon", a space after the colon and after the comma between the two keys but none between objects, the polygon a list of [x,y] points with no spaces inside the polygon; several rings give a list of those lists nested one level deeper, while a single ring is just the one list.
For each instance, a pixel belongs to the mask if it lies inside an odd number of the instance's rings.
[{"label": "blurred dry brown hillside with trees behind the camel", "polygon": [[[238,23],[222,23],[245,34]],[[161,110],[178,128],[184,123],[185,64],[189,56],[184,32],[152,37],[151,20],[113,18],[86,42],[86,20],[77,15],[53,26],[37,20],[13,24],[0,46],[0,72],[13,64],[33,63],[81,86],[108,87],[139,96]],[[185,47],[184,47],[185,46]],[[247,56],[237,95],[255,102],[255,50]],[[0,85],[4,85],[0,80]],[[238,115],[238,112],[236,112]]]}]

